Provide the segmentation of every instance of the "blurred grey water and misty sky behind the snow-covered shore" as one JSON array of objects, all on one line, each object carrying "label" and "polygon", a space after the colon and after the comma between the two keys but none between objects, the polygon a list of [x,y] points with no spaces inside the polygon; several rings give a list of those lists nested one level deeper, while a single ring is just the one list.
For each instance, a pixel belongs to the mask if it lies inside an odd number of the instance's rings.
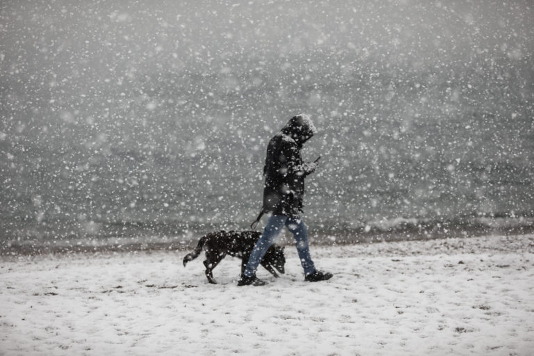
[{"label": "blurred grey water and misty sky behind the snow-covered shore", "polygon": [[322,156],[312,241],[532,232],[533,18],[528,0],[2,1],[0,251],[248,229],[266,144],[300,112]]}]

